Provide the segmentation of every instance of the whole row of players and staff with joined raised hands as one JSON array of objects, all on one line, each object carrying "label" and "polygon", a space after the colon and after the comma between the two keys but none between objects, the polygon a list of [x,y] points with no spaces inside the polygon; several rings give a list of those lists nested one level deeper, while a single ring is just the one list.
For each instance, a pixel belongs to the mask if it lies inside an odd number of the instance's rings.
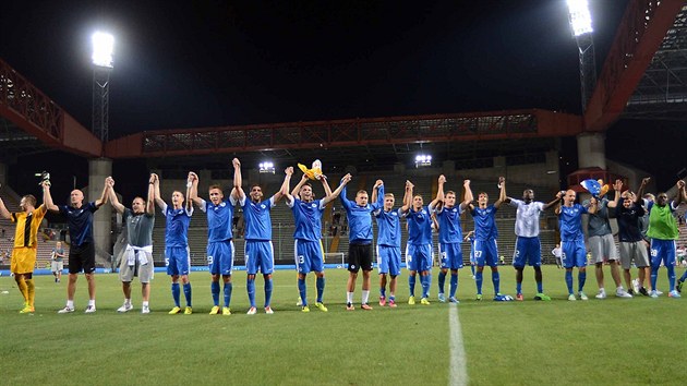
[{"label": "whole row of players and staff with joined raised hands", "polygon": [[[327,178],[322,174],[320,166],[306,169],[301,180],[290,189],[293,168],[285,170],[281,188],[269,198],[264,200],[262,188],[252,184],[246,194],[242,188],[241,162],[232,160],[234,171],[233,186],[228,197],[225,197],[221,186],[210,185],[208,201],[198,196],[198,176],[189,172],[185,193],[173,191],[170,204],[160,196],[160,180],[152,173],[148,180],[146,198],[135,197],[131,208],[122,205],[114,192],[114,180],[105,180],[100,197],[94,202],[84,202],[83,192],[74,190],[70,194],[69,205],[56,205],[50,195],[50,183],[41,183],[44,202],[37,205],[33,195],[25,195],[20,202],[22,212],[9,213],[0,198],[0,215],[16,224],[14,248],[12,251],[11,270],[24,299],[21,313],[35,312],[35,286],[33,269],[36,263],[37,232],[40,221],[48,210],[67,217],[71,237],[69,252],[69,282],[67,288],[67,304],[58,313],[72,313],[74,309],[74,293],[79,273],[83,272],[88,285],[88,304],[86,313],[96,311],[95,294],[95,246],[93,239],[93,214],[104,204],[110,203],[122,215],[126,225],[126,246],[119,266],[119,278],[122,282],[124,302],[118,312],[133,310],[131,302],[131,282],[138,277],[142,287],[141,312],[150,312],[149,295],[150,280],[154,273],[153,264],[153,228],[155,225],[155,206],[165,216],[165,263],[167,274],[171,278],[171,294],[173,307],[169,314],[192,314],[192,286],[189,280],[191,258],[189,252],[189,225],[194,214],[194,205],[207,217],[207,264],[212,277],[210,294],[213,299],[212,315],[231,315],[232,270],[236,249],[232,241],[232,218],[236,205],[243,210],[245,222],[245,268],[246,291],[250,302],[249,315],[256,314],[255,277],[260,272],[264,278],[265,302],[263,310],[273,314],[270,306],[273,293],[274,248],[272,244],[270,210],[277,202],[286,197],[286,204],[291,208],[296,231],[293,233],[293,256],[298,270],[299,305],[302,312],[310,312],[308,304],[308,274],[316,276],[315,307],[327,312],[325,305],[325,273],[324,249],[322,245],[322,216],[328,203],[340,197],[347,213],[349,224],[348,250],[348,282],[346,309],[355,309],[353,294],[358,274],[362,270],[361,309],[372,310],[370,305],[371,272],[373,270],[373,228],[372,219],[377,224],[376,263],[379,277],[381,306],[396,307],[396,291],[401,266],[401,219],[408,227],[408,242],[406,245],[406,264],[409,272],[409,304],[415,304],[415,285],[420,278],[420,304],[430,304],[429,293],[432,282],[433,248],[432,232],[438,233],[438,253],[441,269],[438,274],[438,301],[459,303],[456,298],[458,289],[458,269],[462,268],[461,243],[470,241],[470,262],[477,285],[477,300],[483,299],[483,270],[489,266],[492,272],[494,301],[523,300],[522,272],[526,265],[534,269],[537,282],[535,300],[551,300],[543,289],[541,272],[541,243],[539,239],[539,219],[542,212],[555,207],[559,219],[559,249],[562,265],[565,267],[565,281],[568,289],[568,300],[587,300],[583,291],[587,279],[587,248],[582,229],[582,215],[589,216],[588,246],[591,250],[599,286],[598,299],[606,298],[604,289],[603,266],[610,262],[611,275],[616,285],[615,294],[619,298],[632,298],[634,294],[644,294],[658,298],[662,292],[656,289],[658,272],[661,265],[667,269],[670,292],[672,298],[679,298],[682,286],[687,279],[685,273],[677,281],[675,277],[675,240],[678,237],[677,221],[674,212],[680,202],[687,203],[687,189],[684,181],[678,181],[677,196],[670,201],[666,193],[644,195],[644,188],[649,179],[643,179],[637,193],[623,190],[623,182],[613,185],[615,197],[592,195],[582,204],[576,203],[577,194],[572,190],[562,191],[549,203],[534,201],[534,192],[523,191],[522,198],[517,200],[506,194],[505,178],[498,179],[499,194],[497,200],[489,203],[489,195],[480,192],[474,201],[470,189],[470,180],[465,180],[463,201],[457,201],[455,191],[445,191],[446,178],[438,177],[436,196],[424,205],[424,198],[414,194],[414,185],[406,181],[401,206],[395,208],[395,195],[385,191],[384,181],[376,180],[371,196],[360,190],[353,201],[348,200],[347,185],[351,174],[341,178],[338,186],[333,191]],[[311,180],[320,181],[325,195],[315,198]],[[498,273],[498,253],[495,214],[502,204],[509,204],[516,208],[515,233],[517,237],[513,265],[516,269],[515,299],[501,292]],[[615,212],[618,222],[619,257],[610,224],[610,214]],[[463,238],[460,216],[469,212],[474,220],[474,230]],[[646,230],[642,232],[642,230]],[[63,252],[61,252],[63,255]],[[60,255],[60,254],[58,254]],[[638,268],[638,277],[631,280],[630,267],[632,263]],[[620,270],[627,290],[620,280]],[[477,270],[474,270],[477,267]],[[574,291],[572,270],[578,268],[578,287]],[[61,270],[61,269],[60,269]],[[445,292],[446,277],[449,275],[448,293]],[[221,282],[220,282],[221,279]],[[59,278],[56,278],[59,280]],[[388,284],[388,293],[387,293]],[[221,304],[220,304],[221,289]],[[184,303],[181,303],[181,292]]]}]

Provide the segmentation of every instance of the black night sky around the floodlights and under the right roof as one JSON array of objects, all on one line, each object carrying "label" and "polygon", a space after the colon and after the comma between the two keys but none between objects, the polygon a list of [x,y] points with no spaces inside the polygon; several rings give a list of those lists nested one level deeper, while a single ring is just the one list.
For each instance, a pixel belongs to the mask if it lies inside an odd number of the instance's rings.
[{"label": "black night sky around the floodlights and under the right roof", "polygon": [[[627,1],[590,3],[601,69]],[[11,0],[2,3],[0,57],[88,128],[91,34],[112,33],[110,138],[159,129],[518,108],[580,113],[567,17],[564,0]],[[611,128],[608,157],[635,160],[640,149],[615,137],[646,135],[643,128]],[[665,135],[685,138],[680,129],[667,128]],[[652,172],[671,169],[656,176],[665,184],[684,167],[639,162]]]}]

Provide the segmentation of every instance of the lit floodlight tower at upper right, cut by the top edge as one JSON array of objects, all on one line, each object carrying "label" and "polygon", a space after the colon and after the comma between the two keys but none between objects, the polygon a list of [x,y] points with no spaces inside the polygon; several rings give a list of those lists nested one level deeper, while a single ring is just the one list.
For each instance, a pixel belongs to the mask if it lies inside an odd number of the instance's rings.
[{"label": "lit floodlight tower at upper right, cut by the top edge", "polygon": [[577,43],[580,62],[580,88],[582,94],[582,112],[596,85],[596,59],[594,55],[594,38],[592,20],[587,0],[567,0],[570,27]]}]

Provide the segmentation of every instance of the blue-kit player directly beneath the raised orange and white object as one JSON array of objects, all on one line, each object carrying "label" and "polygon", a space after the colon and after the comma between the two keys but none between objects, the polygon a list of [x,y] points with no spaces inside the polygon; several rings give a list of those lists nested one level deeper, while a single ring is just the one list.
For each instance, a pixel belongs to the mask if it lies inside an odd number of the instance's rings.
[{"label": "blue-kit player directly beneath the raised orange and white object", "polygon": [[[322,214],[325,206],[335,200],[345,184],[350,181],[351,176],[346,174],[341,179],[341,184],[332,192],[326,177],[320,176],[320,181],[325,190],[325,197],[315,200],[313,188],[308,182],[308,177],[303,174],[301,181],[289,193],[288,186],[281,193],[287,196],[287,205],[293,213],[296,221],[296,232],[293,233],[294,245],[293,252],[296,257],[296,267],[298,269],[298,289],[301,295],[301,311],[310,312],[306,299],[305,277],[310,272],[314,272],[317,288],[317,300],[315,306],[320,311],[327,312],[322,298],[325,289],[324,277],[324,248],[322,246]],[[296,197],[298,195],[298,198]]]}]

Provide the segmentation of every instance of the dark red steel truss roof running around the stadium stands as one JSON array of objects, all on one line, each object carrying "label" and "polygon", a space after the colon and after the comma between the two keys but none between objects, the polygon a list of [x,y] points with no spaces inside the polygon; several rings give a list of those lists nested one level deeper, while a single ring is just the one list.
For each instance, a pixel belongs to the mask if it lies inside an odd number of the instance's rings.
[{"label": "dark red steel truss roof running around the stadium stands", "polygon": [[[603,131],[619,118],[686,119],[684,0],[630,1],[584,117],[538,109],[153,131],[103,144],[0,60],[2,158],[51,148],[88,157],[178,157],[253,153],[292,157],[336,148],[371,156],[446,143],[553,138]],[[22,133],[23,132],[23,133]],[[543,140],[546,142],[546,140]],[[465,146],[459,146],[465,148]],[[242,155],[243,157],[243,155]],[[298,157],[302,157],[299,155]]]}]

